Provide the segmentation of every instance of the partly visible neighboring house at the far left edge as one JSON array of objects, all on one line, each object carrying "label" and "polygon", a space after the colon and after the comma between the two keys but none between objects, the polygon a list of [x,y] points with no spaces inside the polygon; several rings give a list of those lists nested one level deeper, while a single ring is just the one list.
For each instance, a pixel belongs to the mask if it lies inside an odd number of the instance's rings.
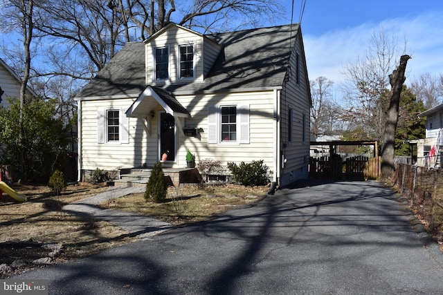
[{"label": "partly visible neighboring house at the far left edge", "polygon": [[[21,79],[3,59],[0,59],[0,106],[9,106],[6,97],[20,97]],[[28,95],[36,97],[34,91],[28,87]]]}]

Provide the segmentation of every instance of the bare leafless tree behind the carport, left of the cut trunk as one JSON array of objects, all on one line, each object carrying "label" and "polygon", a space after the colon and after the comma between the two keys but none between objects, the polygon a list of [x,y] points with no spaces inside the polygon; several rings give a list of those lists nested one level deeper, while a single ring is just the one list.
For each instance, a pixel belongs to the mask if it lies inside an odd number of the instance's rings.
[{"label": "bare leafless tree behind the carport, left of the cut trunk", "polygon": [[347,82],[343,87],[346,102],[343,120],[364,132],[362,140],[378,140],[383,144],[389,104],[383,94],[389,86],[389,73],[395,69],[395,57],[404,53],[405,48],[406,41],[399,47],[396,37],[380,30],[371,36],[365,57],[344,68]]}]

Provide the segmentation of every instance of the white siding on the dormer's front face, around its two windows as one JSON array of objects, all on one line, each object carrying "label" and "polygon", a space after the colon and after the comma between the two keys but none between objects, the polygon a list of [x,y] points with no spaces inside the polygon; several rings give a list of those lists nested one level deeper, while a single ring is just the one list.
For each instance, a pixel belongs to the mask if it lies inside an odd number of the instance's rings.
[{"label": "white siding on the dormer's front face, around its two windows", "polygon": [[[158,37],[155,37],[146,44],[146,81],[147,84],[156,82],[154,79],[155,66],[155,48],[168,47],[169,49],[169,80],[177,82],[179,79],[179,46],[186,44],[194,45],[194,67],[195,80],[204,79],[204,61],[203,61],[203,36],[184,30],[177,26],[170,26],[168,30]],[[183,79],[183,82],[189,82],[190,79]],[[159,81],[157,81],[159,82]],[[162,82],[160,82],[162,83]],[[163,81],[164,83],[164,81]]]}]

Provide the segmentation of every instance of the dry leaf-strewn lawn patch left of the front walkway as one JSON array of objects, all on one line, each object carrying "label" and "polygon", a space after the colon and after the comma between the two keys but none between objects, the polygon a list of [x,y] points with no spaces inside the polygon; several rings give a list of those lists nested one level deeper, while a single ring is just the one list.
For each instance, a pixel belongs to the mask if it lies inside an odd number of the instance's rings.
[{"label": "dry leaf-strewn lawn patch left of the front walkway", "polygon": [[71,185],[60,196],[45,186],[11,185],[27,196],[0,201],[0,278],[52,263],[89,256],[136,240],[109,222],[61,211],[64,204],[96,195],[107,187]]}]

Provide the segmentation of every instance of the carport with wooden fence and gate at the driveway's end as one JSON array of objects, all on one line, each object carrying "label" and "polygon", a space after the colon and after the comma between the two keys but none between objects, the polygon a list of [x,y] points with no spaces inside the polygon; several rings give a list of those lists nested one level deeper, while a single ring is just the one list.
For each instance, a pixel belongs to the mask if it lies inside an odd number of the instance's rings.
[{"label": "carport with wooden fence and gate at the driveway's end", "polygon": [[[329,146],[329,155],[309,159],[309,177],[329,180],[377,179],[380,174],[381,159],[377,141],[328,141],[311,142],[311,146]],[[338,146],[372,146],[371,156],[356,155],[343,162],[337,153]],[[345,167],[344,167],[345,165]]]}]

